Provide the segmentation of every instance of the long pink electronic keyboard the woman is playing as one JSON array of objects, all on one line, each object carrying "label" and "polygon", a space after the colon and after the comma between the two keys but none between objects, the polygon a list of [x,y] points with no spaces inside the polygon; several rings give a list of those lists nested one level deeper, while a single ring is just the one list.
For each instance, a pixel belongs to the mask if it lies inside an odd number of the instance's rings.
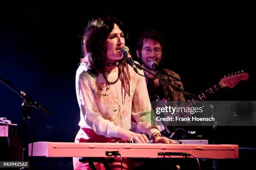
[{"label": "long pink electronic keyboard the woman is playing", "polygon": [[[28,155],[31,156],[28,145]],[[238,145],[198,145],[161,143],[33,143],[33,156],[46,157],[106,157],[117,151],[126,158],[238,158]]]}]

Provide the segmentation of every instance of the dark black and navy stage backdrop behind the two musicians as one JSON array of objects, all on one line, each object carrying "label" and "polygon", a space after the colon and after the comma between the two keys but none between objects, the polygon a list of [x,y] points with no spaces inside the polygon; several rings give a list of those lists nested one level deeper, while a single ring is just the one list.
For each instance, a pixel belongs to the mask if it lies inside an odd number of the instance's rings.
[{"label": "dark black and navy stage backdrop behind the two musicians", "polygon": [[[224,75],[244,70],[250,76],[247,81],[238,82],[233,89],[224,88],[217,96],[220,100],[255,100],[255,17],[250,9],[226,6],[188,11],[181,7],[174,12],[174,7],[158,11],[138,7],[130,9],[130,15],[115,4],[90,12],[90,5],[84,4],[0,8],[0,77],[10,80],[52,113],[48,118],[34,110],[36,141],[74,141],[79,129],[74,82],[82,33],[92,18],[101,15],[114,15],[123,21],[129,33],[126,45],[134,58],[141,32],[158,29],[166,39],[164,65],[195,87],[184,83],[188,92],[199,94]],[[23,138],[20,105],[19,97],[0,84],[0,117],[18,123]],[[216,141],[254,147],[254,131],[251,126],[219,127]]]}]

